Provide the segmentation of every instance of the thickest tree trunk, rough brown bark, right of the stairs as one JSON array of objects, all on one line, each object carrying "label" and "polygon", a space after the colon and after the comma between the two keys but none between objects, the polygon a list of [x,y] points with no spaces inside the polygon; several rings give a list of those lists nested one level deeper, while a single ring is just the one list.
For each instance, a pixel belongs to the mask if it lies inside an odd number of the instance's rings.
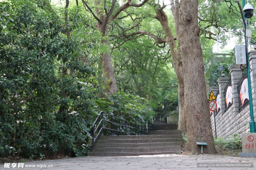
[{"label": "thickest tree trunk, rough brown bark, right of the stairs", "polygon": [[[198,0],[181,0],[179,13],[179,44],[184,73],[184,101],[188,140],[186,149],[200,153],[199,142],[207,142],[204,152],[215,154],[210,112],[205,91],[204,63],[199,40]],[[195,96],[192,100],[191,96]]]}]

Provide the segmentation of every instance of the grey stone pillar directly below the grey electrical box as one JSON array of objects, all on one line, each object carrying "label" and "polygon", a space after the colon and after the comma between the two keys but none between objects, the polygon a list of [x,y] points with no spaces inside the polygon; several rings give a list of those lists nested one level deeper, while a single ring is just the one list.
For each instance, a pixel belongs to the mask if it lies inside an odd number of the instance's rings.
[{"label": "grey stone pillar directly below the grey electrical box", "polygon": [[234,104],[234,115],[236,116],[239,113],[238,100],[240,100],[237,92],[237,82],[241,79],[243,71],[240,68],[235,68],[235,65],[229,66],[229,71],[231,75],[232,103]]}]

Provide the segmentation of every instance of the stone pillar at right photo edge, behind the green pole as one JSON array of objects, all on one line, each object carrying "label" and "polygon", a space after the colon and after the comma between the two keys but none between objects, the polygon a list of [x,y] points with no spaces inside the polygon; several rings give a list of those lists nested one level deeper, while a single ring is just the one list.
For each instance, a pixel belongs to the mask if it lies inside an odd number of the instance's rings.
[{"label": "stone pillar at right photo edge, behind the green pole", "polygon": [[251,86],[252,86],[252,105],[254,119],[256,118],[256,108],[255,108],[255,99],[256,99],[256,51],[249,51],[249,60],[251,68]]}]

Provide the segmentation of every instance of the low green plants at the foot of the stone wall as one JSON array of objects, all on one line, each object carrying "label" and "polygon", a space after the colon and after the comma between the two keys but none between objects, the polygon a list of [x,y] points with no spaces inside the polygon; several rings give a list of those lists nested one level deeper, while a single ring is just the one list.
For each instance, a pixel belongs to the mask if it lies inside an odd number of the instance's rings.
[{"label": "low green plants at the foot of the stone wall", "polygon": [[241,137],[238,134],[233,134],[228,138],[214,138],[214,144],[216,147],[226,148],[226,149],[239,149],[242,148]]}]

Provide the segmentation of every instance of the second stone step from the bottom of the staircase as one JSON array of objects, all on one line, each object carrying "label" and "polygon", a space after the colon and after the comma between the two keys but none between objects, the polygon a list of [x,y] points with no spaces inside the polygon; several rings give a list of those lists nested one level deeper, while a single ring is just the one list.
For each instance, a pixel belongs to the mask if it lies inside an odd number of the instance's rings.
[{"label": "second stone step from the bottom of the staircase", "polygon": [[181,146],[167,146],[156,148],[99,148],[95,147],[95,152],[126,152],[126,153],[145,153],[145,152],[166,152],[166,151],[179,151]]}]

